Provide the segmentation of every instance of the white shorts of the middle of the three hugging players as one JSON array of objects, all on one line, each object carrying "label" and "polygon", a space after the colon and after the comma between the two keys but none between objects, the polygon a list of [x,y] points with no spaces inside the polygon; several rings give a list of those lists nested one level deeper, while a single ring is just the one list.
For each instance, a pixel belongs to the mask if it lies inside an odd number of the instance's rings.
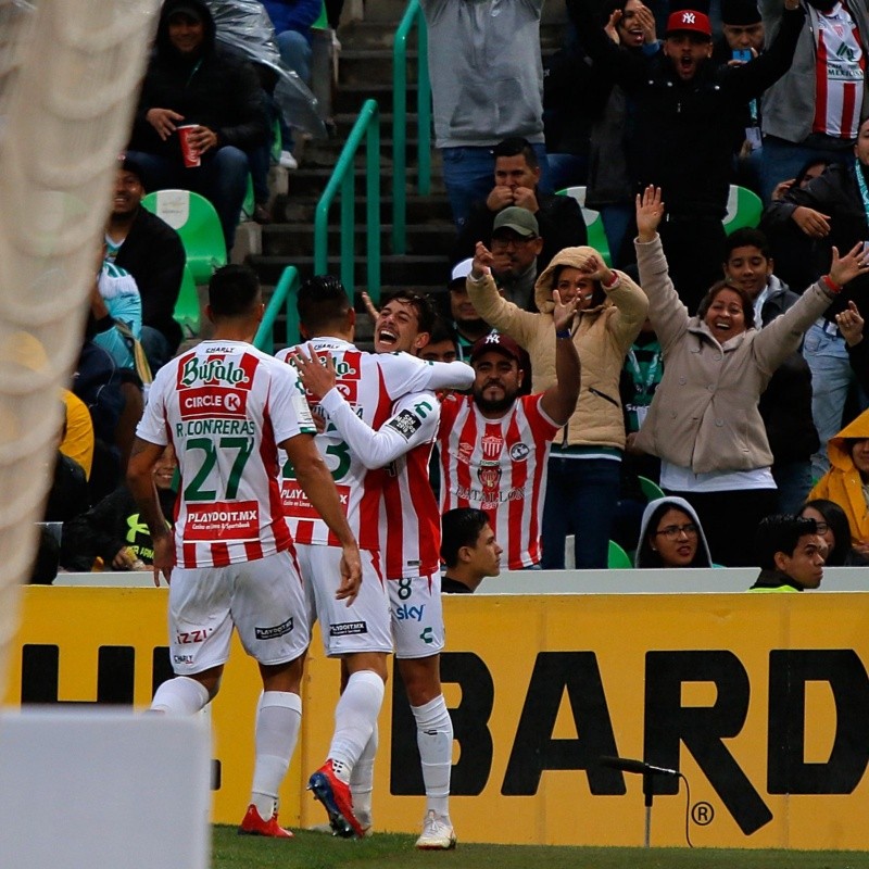
[{"label": "white shorts of the middle of the three hugging players", "polygon": [[299,568],[305,579],[308,606],[316,613],[323,647],[329,657],[354,652],[392,652],[389,630],[389,601],[380,574],[378,553],[362,551],[362,585],[348,606],[335,593],[341,583],[341,550],[297,543]]}]

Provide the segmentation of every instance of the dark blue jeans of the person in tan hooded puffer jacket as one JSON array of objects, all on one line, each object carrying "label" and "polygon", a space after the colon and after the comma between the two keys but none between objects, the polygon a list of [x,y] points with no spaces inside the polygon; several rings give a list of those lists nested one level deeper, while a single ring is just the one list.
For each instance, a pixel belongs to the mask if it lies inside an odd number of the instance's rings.
[{"label": "dark blue jeans of the person in tan hooded puffer jacket", "polygon": [[565,538],[576,536],[577,568],[605,568],[621,463],[550,456],[543,505],[544,570],[564,569]]}]

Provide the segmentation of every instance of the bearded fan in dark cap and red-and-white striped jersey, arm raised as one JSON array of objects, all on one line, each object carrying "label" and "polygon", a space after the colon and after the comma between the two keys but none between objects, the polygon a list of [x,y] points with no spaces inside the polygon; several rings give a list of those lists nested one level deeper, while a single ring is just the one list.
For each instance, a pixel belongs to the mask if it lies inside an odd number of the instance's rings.
[{"label": "bearded fan in dark cap and red-and-white striped jersey, arm raised", "polygon": [[441,512],[484,511],[511,570],[540,562],[550,444],[579,394],[579,356],[569,331],[576,305],[556,301],[557,381],[545,392],[518,398],[521,351],[512,338],[492,332],[471,349],[471,394],[448,396],[441,408]]}]

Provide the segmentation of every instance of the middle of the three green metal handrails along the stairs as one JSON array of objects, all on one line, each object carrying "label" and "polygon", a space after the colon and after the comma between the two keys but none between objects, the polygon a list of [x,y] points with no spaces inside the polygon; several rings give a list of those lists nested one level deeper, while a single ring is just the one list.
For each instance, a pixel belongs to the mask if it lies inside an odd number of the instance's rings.
[{"label": "middle of the three green metal handrails along the stairs", "polygon": [[376,100],[366,100],[350,131],[341,155],[335,165],[314,215],[314,272],[324,275],[329,263],[329,206],[341,193],[341,282],[351,301],[355,290],[353,267],[355,264],[355,176],[356,151],[366,137],[366,245],[368,256],[368,294],[377,302],[380,299],[380,114]]}]

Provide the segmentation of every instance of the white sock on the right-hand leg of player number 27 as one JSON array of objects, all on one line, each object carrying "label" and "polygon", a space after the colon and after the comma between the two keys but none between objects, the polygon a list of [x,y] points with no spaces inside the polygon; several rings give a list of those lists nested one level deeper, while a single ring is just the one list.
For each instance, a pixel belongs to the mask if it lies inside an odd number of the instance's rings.
[{"label": "white sock on the right-hand leg of player number 27", "polygon": [[288,691],[264,691],[256,705],[255,760],[251,802],[268,820],[278,807],[278,790],[295,750],[302,698]]}]

